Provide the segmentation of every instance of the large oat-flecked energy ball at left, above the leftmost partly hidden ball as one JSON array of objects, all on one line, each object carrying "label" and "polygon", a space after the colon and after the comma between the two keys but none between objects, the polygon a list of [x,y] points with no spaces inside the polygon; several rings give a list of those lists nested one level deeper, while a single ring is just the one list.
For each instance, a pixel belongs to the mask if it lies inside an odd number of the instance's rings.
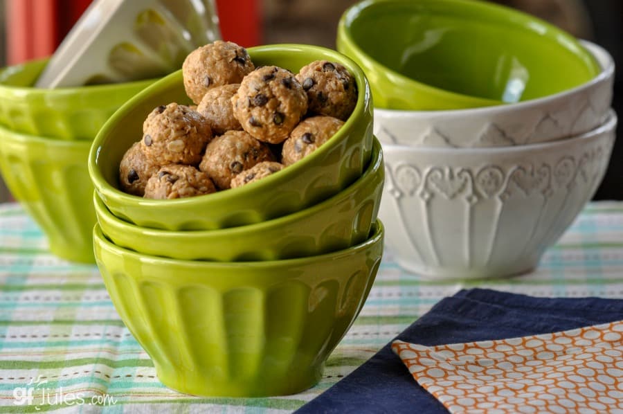
[{"label": "large oat-flecked energy ball at left, above the leftmost partly hidden ball", "polygon": [[210,125],[199,112],[170,103],[145,119],[141,150],[158,165],[197,164],[211,139]]}]

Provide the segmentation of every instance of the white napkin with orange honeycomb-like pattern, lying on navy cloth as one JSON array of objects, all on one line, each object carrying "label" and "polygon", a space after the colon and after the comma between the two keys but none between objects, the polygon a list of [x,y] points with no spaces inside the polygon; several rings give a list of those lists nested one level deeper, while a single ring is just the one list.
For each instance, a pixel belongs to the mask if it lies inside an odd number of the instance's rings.
[{"label": "white napkin with orange honeycomb-like pattern, lying on navy cloth", "polygon": [[392,350],[451,413],[623,412],[623,321]]}]

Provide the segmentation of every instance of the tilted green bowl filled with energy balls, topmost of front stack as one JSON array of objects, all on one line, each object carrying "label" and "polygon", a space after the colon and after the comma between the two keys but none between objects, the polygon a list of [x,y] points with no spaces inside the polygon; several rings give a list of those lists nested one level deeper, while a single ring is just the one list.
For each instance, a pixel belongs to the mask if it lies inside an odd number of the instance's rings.
[{"label": "tilted green bowl filled with energy balls, topmost of front stack", "polygon": [[372,102],[359,66],[336,51],[282,44],[249,49],[255,66],[276,64],[294,73],[320,59],[343,64],[356,79],[359,96],[343,127],[314,153],[288,168],[246,186],[175,200],[143,199],[118,188],[119,163],[141,139],[143,120],[158,105],[188,103],[181,71],[127,102],[102,127],[89,154],[89,174],[111,213],[138,226],[167,230],[211,230],[281,217],[337,194],[363,172],[372,152]]}]

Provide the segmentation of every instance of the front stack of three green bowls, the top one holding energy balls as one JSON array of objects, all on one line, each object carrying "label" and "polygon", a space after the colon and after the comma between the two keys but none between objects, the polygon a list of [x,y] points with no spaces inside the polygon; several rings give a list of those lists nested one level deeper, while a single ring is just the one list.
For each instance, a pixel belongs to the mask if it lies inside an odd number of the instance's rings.
[{"label": "front stack of three green bowls, the top one holding energy balls", "polygon": [[125,194],[119,163],[147,114],[190,104],[179,71],[117,111],[89,154],[95,255],[111,300],[161,381],[195,395],[285,395],[316,384],[383,251],[383,154],[359,66],[315,46],[249,54],[255,66],[294,73],[314,60],[343,64],[359,87],[352,115],[316,152],[258,182],[186,199]]}]

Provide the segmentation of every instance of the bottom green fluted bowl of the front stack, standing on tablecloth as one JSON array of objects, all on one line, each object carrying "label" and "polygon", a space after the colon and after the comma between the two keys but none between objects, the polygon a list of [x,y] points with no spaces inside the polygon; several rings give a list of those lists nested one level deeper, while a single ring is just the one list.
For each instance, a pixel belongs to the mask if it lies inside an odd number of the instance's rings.
[{"label": "bottom green fluted bowl of the front stack, standing on tablecloth", "polygon": [[100,273],[159,379],[183,393],[262,397],[316,384],[359,314],[383,253],[383,227],[350,249],[273,262],[142,255],[96,225]]}]

